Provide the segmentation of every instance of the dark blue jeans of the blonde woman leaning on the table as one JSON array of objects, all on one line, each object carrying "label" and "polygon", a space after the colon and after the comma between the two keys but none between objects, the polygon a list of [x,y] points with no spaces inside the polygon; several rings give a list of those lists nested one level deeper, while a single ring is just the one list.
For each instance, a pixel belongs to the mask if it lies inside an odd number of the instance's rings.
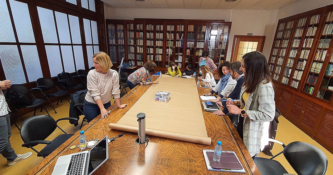
[{"label": "dark blue jeans of the blonde woman leaning on the table", "polygon": [[[111,106],[111,102],[103,104],[105,109],[108,109]],[[101,114],[100,107],[97,104],[87,102],[86,99],[83,102],[83,113],[88,122],[95,119],[98,115]]]}]

